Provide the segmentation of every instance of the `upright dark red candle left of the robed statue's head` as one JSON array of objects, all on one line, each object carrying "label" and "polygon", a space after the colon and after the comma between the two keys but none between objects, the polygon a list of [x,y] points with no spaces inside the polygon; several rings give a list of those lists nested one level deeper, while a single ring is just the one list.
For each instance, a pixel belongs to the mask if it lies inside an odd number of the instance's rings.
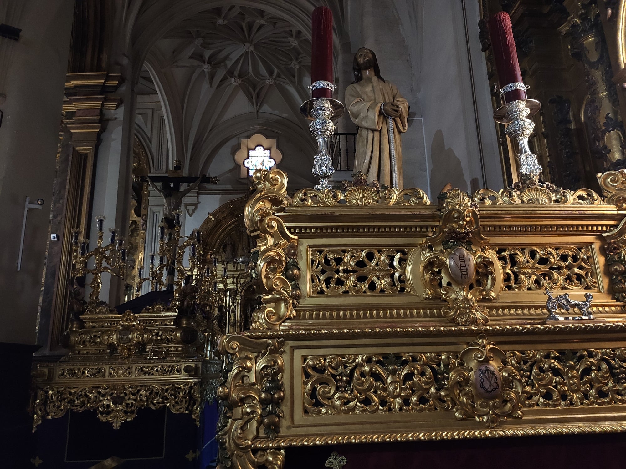
[{"label": "upright dark red candle left of the robed statue's head", "polygon": [[[325,6],[313,10],[313,38],[311,44],[311,82],[333,82],[332,76],[332,12]],[[313,98],[332,98],[332,90],[317,88]]]}]

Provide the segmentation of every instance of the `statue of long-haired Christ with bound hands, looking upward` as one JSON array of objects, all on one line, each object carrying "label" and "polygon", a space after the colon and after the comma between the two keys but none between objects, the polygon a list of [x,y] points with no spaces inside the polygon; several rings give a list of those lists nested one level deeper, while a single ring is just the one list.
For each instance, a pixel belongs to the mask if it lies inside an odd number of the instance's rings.
[{"label": "statue of long-haired Christ with bound hands, looking upward", "polygon": [[354,56],[354,82],[346,88],[346,106],[359,127],[354,171],[367,181],[403,189],[402,139],[406,132],[409,103],[398,88],[385,81],[376,54],[361,48]]}]

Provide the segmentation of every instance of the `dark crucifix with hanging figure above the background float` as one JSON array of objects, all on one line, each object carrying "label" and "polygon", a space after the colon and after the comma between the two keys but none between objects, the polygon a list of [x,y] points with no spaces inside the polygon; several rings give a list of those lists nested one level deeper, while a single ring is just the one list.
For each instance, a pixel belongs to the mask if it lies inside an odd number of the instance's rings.
[{"label": "dark crucifix with hanging figure above the background float", "polygon": [[[175,212],[180,210],[183,198],[197,188],[201,183],[217,184],[219,179],[202,174],[202,176],[182,176],[181,166],[174,166],[175,171],[170,171],[168,176],[146,176],[145,181],[163,197],[163,220],[168,228],[174,228]],[[156,183],[161,183],[159,188]],[[180,184],[191,183],[188,188],[180,190]]]}]

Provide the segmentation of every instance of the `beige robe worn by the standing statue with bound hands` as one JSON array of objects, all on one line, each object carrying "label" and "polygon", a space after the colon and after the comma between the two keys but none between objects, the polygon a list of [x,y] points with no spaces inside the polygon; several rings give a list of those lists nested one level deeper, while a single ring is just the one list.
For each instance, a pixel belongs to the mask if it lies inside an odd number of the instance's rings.
[{"label": "beige robe worn by the standing statue with bound hands", "polygon": [[406,132],[409,103],[398,93],[398,88],[388,81],[364,78],[346,88],[346,105],[352,122],[359,127],[354,155],[354,171],[367,174],[367,181],[377,179],[392,186],[391,148],[387,117],[382,113],[382,103],[400,106],[400,117],[393,119],[393,135],[398,168],[398,188],[403,189],[402,139]]}]

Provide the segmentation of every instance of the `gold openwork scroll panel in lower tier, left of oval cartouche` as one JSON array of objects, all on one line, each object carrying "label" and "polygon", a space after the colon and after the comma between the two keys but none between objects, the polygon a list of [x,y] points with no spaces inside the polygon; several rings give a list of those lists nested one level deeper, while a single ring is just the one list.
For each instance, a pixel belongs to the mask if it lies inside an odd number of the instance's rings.
[{"label": "gold openwork scroll panel in lower tier, left of oval cartouche", "polygon": [[313,355],[304,370],[304,410],[310,415],[451,410],[446,366],[436,353]]}]

